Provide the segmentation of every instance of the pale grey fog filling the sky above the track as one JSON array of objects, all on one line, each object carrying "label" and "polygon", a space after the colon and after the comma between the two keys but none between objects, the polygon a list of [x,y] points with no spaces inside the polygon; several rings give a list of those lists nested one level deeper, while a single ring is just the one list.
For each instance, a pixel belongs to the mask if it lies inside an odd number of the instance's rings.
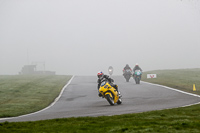
[{"label": "pale grey fog filling the sky above the track", "polygon": [[0,0],[0,75],[200,68],[199,0]]}]

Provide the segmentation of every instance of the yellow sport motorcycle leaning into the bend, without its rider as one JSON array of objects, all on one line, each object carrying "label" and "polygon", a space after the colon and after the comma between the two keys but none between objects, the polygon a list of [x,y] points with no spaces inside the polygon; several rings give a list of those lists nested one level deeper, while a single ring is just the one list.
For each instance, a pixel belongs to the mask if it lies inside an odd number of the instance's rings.
[{"label": "yellow sport motorcycle leaning into the bend, without its rider", "polygon": [[100,85],[99,92],[102,94],[104,98],[107,99],[110,105],[114,105],[115,103],[121,104],[122,99],[117,90],[110,85],[108,81],[103,81]]}]

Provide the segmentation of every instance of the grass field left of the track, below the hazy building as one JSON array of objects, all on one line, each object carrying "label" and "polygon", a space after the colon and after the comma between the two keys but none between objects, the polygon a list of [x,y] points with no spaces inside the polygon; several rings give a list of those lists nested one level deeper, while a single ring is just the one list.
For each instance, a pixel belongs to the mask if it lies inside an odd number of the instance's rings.
[{"label": "grass field left of the track, below the hazy building", "polygon": [[47,107],[71,76],[0,76],[0,117],[13,117]]}]

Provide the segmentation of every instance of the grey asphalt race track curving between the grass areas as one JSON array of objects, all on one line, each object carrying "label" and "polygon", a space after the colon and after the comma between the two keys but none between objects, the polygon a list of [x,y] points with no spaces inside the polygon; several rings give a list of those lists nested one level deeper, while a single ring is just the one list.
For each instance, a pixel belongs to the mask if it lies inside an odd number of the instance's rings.
[{"label": "grey asphalt race track curving between the grass areas", "polygon": [[96,76],[75,76],[63,89],[53,106],[42,111],[0,122],[37,121],[80,116],[111,116],[182,107],[200,102],[200,97],[145,82],[136,85],[133,79],[126,82],[123,76],[113,76],[122,94],[122,104],[110,106],[98,97]]}]

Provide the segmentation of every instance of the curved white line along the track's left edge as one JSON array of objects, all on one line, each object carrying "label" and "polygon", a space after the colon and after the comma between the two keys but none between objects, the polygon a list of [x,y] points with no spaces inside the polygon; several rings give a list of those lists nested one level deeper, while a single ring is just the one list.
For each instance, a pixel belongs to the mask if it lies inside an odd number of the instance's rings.
[{"label": "curved white line along the track's left edge", "polygon": [[75,77],[75,76],[73,75],[72,78],[68,81],[68,83],[62,88],[62,90],[61,90],[59,96],[58,96],[58,97],[54,100],[54,102],[51,103],[48,107],[46,107],[46,108],[44,108],[44,109],[42,109],[42,110],[39,110],[39,111],[37,111],[37,112],[34,112],[34,113],[30,113],[30,114],[26,114],[26,115],[20,115],[20,116],[16,116],[16,117],[0,118],[0,120],[8,120],[8,119],[14,119],[14,118],[19,118],[19,117],[25,117],[25,116],[29,116],[29,115],[33,115],[33,114],[40,113],[40,112],[42,112],[42,111],[45,111],[45,110],[51,108],[51,107],[60,99],[61,95],[63,94],[63,92],[64,92],[64,90],[65,90],[65,88],[67,88],[67,86],[71,83],[71,81],[73,80],[74,77]]}]

